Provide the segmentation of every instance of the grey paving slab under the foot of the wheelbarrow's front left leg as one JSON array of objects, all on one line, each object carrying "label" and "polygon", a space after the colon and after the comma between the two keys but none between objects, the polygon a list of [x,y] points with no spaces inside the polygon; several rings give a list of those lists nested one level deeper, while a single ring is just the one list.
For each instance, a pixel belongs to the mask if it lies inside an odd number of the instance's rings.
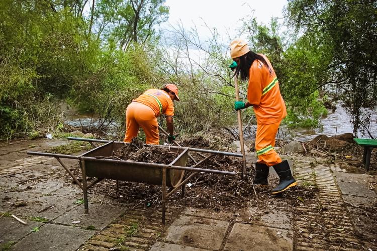
[{"label": "grey paving slab under the foot of the wheelbarrow's front left leg", "polygon": [[[95,226],[96,229],[103,229],[115,218],[120,216],[125,210],[126,208],[116,205],[89,203],[89,214],[84,214],[84,205],[82,204],[56,218],[54,222],[82,227],[92,225]],[[73,224],[73,221],[80,222]]]}]

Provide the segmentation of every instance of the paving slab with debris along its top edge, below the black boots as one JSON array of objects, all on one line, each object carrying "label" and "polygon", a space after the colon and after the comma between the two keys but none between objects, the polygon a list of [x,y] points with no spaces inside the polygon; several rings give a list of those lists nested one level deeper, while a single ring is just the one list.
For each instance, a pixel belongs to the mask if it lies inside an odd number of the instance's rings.
[{"label": "paving slab with debris along its top edge, below the black boots", "polygon": [[[287,205],[288,207],[289,205]],[[268,213],[263,213],[267,211]],[[277,208],[271,208],[266,210],[256,209],[253,205],[242,209],[237,217],[237,222],[247,222],[251,224],[272,226],[282,229],[292,229],[292,214]]]}]

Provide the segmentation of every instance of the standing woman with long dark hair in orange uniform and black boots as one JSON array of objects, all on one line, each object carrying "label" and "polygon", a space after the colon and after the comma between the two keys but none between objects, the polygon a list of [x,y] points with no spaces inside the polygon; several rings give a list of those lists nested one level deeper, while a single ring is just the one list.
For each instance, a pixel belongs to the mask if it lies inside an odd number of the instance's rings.
[{"label": "standing woman with long dark hair in orange uniform and black boots", "polygon": [[242,39],[230,44],[230,55],[237,63],[235,75],[242,81],[249,81],[247,101],[236,101],[236,110],[253,106],[257,119],[255,150],[258,161],[255,163],[255,184],[267,185],[269,167],[273,166],[280,178],[279,184],[272,189],[277,194],[296,186],[287,160],[281,161],[275,152],[275,136],[280,122],[287,116],[286,104],[281,97],[279,83],[271,63],[266,56],[249,50]]}]

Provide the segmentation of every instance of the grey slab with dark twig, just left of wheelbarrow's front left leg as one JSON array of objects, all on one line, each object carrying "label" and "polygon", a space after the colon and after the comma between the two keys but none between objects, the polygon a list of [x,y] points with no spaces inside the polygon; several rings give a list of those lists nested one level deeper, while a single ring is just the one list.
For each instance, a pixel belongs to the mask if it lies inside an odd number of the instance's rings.
[{"label": "grey slab with dark twig, just left of wheelbarrow's front left leg", "polygon": [[41,216],[52,220],[77,207],[74,201],[57,196],[42,196],[27,199],[26,206],[14,208],[12,212],[24,216]]}]

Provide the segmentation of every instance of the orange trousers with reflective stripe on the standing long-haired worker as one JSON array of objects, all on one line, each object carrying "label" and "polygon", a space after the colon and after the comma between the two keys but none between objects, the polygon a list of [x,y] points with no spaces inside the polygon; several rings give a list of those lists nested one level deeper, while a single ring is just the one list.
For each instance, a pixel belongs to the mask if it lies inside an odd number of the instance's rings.
[{"label": "orange trousers with reflective stripe on the standing long-haired worker", "polygon": [[255,150],[258,155],[258,162],[273,166],[281,162],[279,155],[275,152],[275,136],[279,129],[280,121],[272,124],[258,124],[255,137]]}]

